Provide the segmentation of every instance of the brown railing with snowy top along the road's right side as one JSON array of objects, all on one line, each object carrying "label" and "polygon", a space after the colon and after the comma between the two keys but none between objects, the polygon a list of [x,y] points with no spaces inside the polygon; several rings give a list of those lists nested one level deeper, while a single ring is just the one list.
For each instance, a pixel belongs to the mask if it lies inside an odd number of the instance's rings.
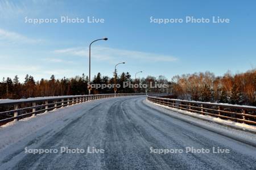
[{"label": "brown railing with snowy top along the road's right side", "polygon": [[147,100],[184,111],[200,113],[213,117],[256,125],[256,107],[246,105],[218,104],[200,101],[167,99],[147,95]]}]

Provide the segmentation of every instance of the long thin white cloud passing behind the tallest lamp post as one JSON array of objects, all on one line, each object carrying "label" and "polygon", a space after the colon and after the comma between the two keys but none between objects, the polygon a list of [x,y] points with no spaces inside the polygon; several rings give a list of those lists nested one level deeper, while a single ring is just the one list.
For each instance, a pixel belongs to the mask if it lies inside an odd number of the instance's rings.
[{"label": "long thin white cloud passing behind the tallest lamp post", "polygon": [[[81,56],[88,57],[89,50],[81,47],[78,48],[66,48],[55,50],[54,53],[64,54],[67,56]],[[123,49],[115,49],[103,46],[94,46],[92,50],[92,55],[94,58],[102,61],[112,62],[114,59],[123,59],[123,58],[131,58],[131,59],[141,59],[144,62],[174,62],[177,60],[176,57],[163,55],[163,54],[155,54],[155,53],[147,53],[147,52],[139,52],[134,50],[123,50]]]}]

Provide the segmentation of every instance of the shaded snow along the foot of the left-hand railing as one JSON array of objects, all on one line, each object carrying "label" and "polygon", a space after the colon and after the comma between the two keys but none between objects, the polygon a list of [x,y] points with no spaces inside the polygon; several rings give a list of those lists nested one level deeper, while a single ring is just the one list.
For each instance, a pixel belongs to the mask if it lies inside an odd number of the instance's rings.
[{"label": "shaded snow along the foot of the left-hand railing", "polygon": [[[94,100],[93,103],[97,101],[99,100]],[[67,120],[72,120],[80,115],[81,110],[85,108],[84,104],[75,104],[69,107],[55,109],[37,114],[35,117],[23,118],[20,121],[12,121],[0,126],[0,150],[50,124],[55,127],[64,126],[68,123]]]}]

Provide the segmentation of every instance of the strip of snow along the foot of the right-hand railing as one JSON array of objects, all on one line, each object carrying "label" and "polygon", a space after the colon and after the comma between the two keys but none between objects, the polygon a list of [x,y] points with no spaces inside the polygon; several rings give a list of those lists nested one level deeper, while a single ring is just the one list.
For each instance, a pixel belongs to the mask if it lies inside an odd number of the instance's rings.
[{"label": "strip of snow along the foot of the right-hand railing", "polygon": [[[148,107],[166,113],[179,120],[189,122],[210,131],[215,131],[218,134],[236,139],[237,141],[256,146],[256,126],[221,120],[220,118],[205,116],[198,113],[181,111],[179,109],[170,108],[165,105],[152,103],[148,100],[144,100],[143,103]],[[251,131],[252,133],[245,130]]]}]

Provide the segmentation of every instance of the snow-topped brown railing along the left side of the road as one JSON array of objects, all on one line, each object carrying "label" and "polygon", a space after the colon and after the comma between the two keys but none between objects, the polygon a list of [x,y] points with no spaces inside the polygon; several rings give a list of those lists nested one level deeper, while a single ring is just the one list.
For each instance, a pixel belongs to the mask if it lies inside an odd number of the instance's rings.
[{"label": "snow-topped brown railing along the left side of the road", "polygon": [[18,121],[25,117],[51,111],[69,105],[79,104],[86,101],[105,99],[121,96],[139,96],[146,93],[137,94],[100,94],[100,95],[79,95],[79,96],[56,96],[56,97],[36,97],[19,100],[0,100],[0,125],[10,121]]}]

